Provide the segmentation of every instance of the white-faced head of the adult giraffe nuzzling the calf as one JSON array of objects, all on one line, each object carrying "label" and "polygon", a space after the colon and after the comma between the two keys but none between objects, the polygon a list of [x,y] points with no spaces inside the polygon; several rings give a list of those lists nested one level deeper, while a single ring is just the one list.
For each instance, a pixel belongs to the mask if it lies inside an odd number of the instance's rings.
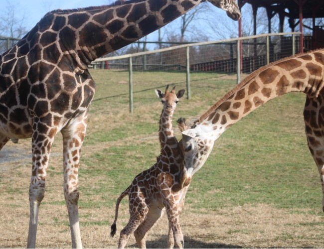
[{"label": "white-faced head of the adult giraffe nuzzling the calf", "polygon": [[210,126],[195,124],[182,131],[182,139],[179,141],[183,154],[180,177],[182,187],[190,183],[193,174],[204,165],[216,139]]}]

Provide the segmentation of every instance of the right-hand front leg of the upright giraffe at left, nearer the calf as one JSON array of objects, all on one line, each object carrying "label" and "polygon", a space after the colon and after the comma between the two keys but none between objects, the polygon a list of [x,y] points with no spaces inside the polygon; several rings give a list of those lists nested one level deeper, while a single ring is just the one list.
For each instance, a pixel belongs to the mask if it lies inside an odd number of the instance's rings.
[{"label": "right-hand front leg of the upright giraffe at left, nearer the calf", "polygon": [[87,127],[87,113],[67,124],[62,130],[63,135],[63,170],[64,197],[69,214],[72,248],[82,248],[78,199],[79,199],[79,161],[81,146]]}]

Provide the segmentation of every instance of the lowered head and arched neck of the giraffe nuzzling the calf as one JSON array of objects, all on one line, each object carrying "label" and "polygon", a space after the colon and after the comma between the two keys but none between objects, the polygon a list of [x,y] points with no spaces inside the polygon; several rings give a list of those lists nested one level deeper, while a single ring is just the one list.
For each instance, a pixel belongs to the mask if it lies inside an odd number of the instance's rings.
[{"label": "lowered head and arched neck of the giraffe nuzzling the calf", "polygon": [[182,132],[186,153],[181,182],[190,179],[204,165],[214,141],[231,125],[268,101],[290,92],[304,92],[316,101],[323,95],[323,87],[324,50],[286,58],[249,75],[192,128]]}]

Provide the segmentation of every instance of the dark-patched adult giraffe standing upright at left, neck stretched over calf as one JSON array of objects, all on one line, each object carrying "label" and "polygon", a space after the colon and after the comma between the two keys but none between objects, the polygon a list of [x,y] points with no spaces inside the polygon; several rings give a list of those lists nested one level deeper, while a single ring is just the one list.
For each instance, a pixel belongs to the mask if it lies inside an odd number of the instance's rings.
[{"label": "dark-patched adult giraffe standing upright at left, neck stretched over calf", "polygon": [[[64,196],[72,247],[81,248],[78,167],[95,82],[96,58],[161,28],[205,0],[129,0],[47,13],[0,56],[0,149],[11,138],[32,138],[27,247],[35,247],[39,205],[54,136],[61,131]],[[240,17],[235,0],[208,0]]]}]

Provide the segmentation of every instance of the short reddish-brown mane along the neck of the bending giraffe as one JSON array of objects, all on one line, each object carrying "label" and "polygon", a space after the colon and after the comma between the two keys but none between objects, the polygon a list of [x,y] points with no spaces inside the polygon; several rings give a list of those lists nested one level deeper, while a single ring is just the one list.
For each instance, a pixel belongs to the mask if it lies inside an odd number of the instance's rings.
[{"label": "short reddish-brown mane along the neck of the bending giraffe", "polygon": [[[314,51],[318,51],[321,49],[316,49],[310,52],[314,52]],[[239,84],[237,84],[233,89],[231,89],[229,92],[227,92],[219,101],[217,101],[211,108],[209,108],[209,110],[207,112],[205,112],[204,114],[202,114],[200,116],[200,118],[196,121],[198,123],[201,123],[204,119],[206,119],[212,112],[214,112],[221,104],[223,104],[230,96],[232,96],[234,93],[236,93],[242,86],[244,86],[245,84],[247,84],[250,80],[252,80],[254,77],[256,77],[259,73],[261,73],[262,71],[280,63],[280,62],[284,62],[287,61],[289,59],[301,56],[303,54],[306,53],[299,53],[296,55],[292,55],[289,57],[285,57],[282,58],[280,60],[277,61],[273,61],[263,67],[260,67],[259,69],[255,70],[254,72],[252,72],[251,74],[249,74],[248,76],[246,76]]]}]

